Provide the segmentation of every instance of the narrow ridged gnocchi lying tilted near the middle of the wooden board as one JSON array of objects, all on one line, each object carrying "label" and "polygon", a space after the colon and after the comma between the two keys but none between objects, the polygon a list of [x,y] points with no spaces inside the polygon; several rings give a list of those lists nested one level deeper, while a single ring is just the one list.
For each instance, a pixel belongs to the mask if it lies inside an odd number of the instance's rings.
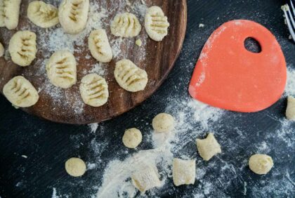
[{"label": "narrow ridged gnocchi lying tilted near the middle of the wooden board", "polygon": [[89,49],[92,56],[100,62],[112,60],[112,48],[105,29],[93,30],[88,39]]}]

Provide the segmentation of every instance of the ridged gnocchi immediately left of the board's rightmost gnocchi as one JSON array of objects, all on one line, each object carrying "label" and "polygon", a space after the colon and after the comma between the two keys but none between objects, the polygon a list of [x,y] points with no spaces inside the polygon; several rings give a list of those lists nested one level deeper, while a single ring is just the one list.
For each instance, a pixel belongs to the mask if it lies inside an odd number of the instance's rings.
[{"label": "ridged gnocchi immediately left of the board's rightmost gnocchi", "polygon": [[141,25],[132,13],[119,13],[111,24],[111,32],[116,37],[136,37],[141,31]]}]

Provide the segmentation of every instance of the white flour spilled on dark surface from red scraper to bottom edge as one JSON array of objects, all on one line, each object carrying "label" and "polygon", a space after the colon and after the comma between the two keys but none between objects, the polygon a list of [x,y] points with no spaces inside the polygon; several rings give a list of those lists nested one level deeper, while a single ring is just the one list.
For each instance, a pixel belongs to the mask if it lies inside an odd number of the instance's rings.
[{"label": "white flour spilled on dark surface from red scraper to bottom edge", "polygon": [[[170,183],[173,153],[179,152],[188,142],[195,141],[195,137],[192,138],[185,132],[193,128],[196,123],[201,126],[202,130],[207,130],[209,122],[217,121],[223,114],[222,110],[209,107],[190,98],[181,102],[172,100],[165,112],[176,117],[178,124],[175,131],[169,133],[150,131],[152,145],[154,146],[152,150],[138,151],[124,161],[117,159],[110,161],[107,169],[105,169],[103,184],[98,190],[97,197],[113,197],[113,194],[118,194],[118,197],[135,197],[138,190],[131,183],[131,174],[145,165],[157,167],[158,170],[161,170],[159,175],[162,186]],[[190,115],[192,115],[191,118]],[[182,157],[183,159],[190,159],[190,157]],[[197,177],[202,178],[205,173],[206,171],[201,171],[197,174]],[[209,194],[211,187],[211,183],[206,183],[204,193]],[[156,192],[157,188],[150,190],[150,196],[155,195]]]}]

